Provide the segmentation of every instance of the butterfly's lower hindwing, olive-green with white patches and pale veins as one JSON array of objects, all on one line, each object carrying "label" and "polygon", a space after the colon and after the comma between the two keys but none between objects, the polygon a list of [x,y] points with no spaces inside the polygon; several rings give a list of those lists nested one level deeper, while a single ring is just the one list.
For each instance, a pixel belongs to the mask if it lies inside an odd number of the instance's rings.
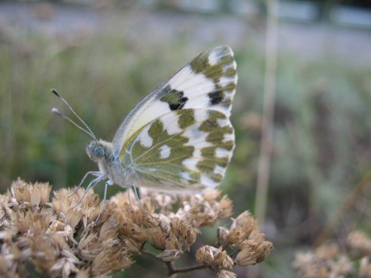
[{"label": "butterfly's lower hindwing, olive-green with white patches and pale veins", "polygon": [[[217,110],[170,111],[125,142],[120,162],[138,186],[162,191],[214,188],[224,177],[234,130]],[[138,183],[139,182],[139,183]]]}]

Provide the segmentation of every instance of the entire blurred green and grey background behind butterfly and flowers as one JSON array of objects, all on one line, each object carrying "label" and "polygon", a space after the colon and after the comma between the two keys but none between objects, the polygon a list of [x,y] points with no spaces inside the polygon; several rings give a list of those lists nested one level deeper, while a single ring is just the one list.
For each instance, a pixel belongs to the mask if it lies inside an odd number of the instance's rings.
[{"label": "entire blurred green and grey background behind butterfly and flowers", "polygon": [[[273,156],[263,223],[276,249],[261,265],[260,277],[294,277],[295,251],[314,244],[371,169],[370,8],[366,0],[279,2]],[[265,33],[265,1],[0,1],[1,193],[18,176],[58,189],[97,168],[85,153],[89,137],[50,113],[58,107],[70,115],[52,87],[99,138],[111,140],[142,97],[197,54],[226,44],[234,50],[239,82],[232,113],[236,150],[220,188],[234,200],[236,214],[253,211]],[[102,194],[103,186],[95,190]],[[119,190],[111,186],[108,193]],[[367,187],[359,192],[332,238],[353,229],[370,233],[370,193]],[[210,233],[203,230],[202,241],[212,244]],[[194,261],[200,245],[186,259]],[[149,258],[116,277],[138,272],[164,275]],[[245,269],[237,273],[256,276]]]}]

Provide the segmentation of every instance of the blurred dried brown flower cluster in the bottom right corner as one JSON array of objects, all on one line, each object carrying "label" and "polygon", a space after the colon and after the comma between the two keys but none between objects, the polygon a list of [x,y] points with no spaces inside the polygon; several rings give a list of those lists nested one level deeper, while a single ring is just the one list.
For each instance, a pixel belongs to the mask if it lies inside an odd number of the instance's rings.
[{"label": "blurred dried brown flower cluster in the bottom right corner", "polygon": [[371,277],[371,239],[361,231],[351,232],[345,246],[323,244],[314,251],[295,255],[298,277]]}]

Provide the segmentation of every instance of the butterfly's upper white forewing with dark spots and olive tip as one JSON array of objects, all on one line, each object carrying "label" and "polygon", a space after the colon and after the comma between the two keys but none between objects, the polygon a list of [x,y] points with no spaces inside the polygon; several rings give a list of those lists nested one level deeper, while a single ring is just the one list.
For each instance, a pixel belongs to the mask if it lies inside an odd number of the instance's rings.
[{"label": "butterfly's upper white forewing with dark spots and olive tip", "polygon": [[118,156],[132,136],[161,116],[185,109],[215,110],[230,116],[236,91],[237,70],[230,47],[201,53],[170,79],[142,99],[121,123],[113,143]]}]

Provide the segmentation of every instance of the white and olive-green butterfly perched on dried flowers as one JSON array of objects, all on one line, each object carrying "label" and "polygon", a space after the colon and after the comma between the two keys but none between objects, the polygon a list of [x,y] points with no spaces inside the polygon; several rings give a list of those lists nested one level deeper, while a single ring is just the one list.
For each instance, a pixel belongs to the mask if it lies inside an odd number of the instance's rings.
[{"label": "white and olive-green butterfly perched on dried flowers", "polygon": [[[105,183],[162,192],[202,192],[220,184],[234,149],[234,129],[229,120],[236,92],[237,65],[228,46],[209,49],[182,67],[168,80],[135,105],[117,129],[112,142],[96,139],[86,123],[59,93],[86,129],[53,108],[93,140],[86,153],[96,162],[99,171],[87,186]],[[75,193],[74,192],[74,193]],[[72,193],[73,194],[73,193]],[[145,209],[144,209],[145,211]]]}]

